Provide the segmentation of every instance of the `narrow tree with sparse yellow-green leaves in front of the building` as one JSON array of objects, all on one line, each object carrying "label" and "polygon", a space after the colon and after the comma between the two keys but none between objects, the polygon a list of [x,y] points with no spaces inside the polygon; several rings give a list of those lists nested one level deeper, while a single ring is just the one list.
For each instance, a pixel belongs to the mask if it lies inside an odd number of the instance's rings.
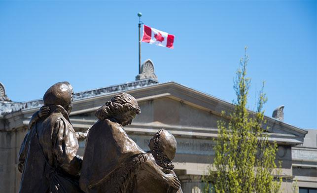
[{"label": "narrow tree with sparse yellow-green leaves in front of the building", "polygon": [[[203,179],[213,182],[216,193],[278,193],[281,188],[282,178],[274,177],[281,171],[275,163],[277,144],[268,140],[267,132],[262,128],[266,123],[262,108],[267,101],[263,93],[264,82],[256,112],[247,110],[250,87],[247,63],[246,47],[234,81],[235,109],[229,114],[222,112],[223,119],[217,122],[214,162]],[[210,183],[206,183],[205,191],[210,191]]]}]

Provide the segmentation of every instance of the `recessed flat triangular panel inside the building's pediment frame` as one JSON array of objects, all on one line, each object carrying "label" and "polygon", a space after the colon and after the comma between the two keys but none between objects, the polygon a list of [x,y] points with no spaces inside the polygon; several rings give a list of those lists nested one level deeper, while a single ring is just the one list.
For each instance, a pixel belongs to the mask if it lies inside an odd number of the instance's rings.
[{"label": "recessed flat triangular panel inside the building's pediment frame", "polygon": [[[136,116],[133,125],[151,127],[197,127],[204,129],[214,129],[217,127],[217,120],[220,116],[212,114],[210,111],[198,108],[183,101],[176,100],[170,94],[158,98],[139,98],[141,115]],[[98,108],[74,111],[70,114],[70,119],[91,122],[97,121],[95,112]],[[80,112],[80,113],[79,113]],[[89,123],[88,123],[89,124]]]}]

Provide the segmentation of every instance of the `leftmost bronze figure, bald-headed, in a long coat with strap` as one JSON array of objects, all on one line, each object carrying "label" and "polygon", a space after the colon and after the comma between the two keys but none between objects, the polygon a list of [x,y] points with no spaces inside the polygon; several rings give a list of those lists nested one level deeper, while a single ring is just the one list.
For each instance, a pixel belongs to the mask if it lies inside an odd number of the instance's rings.
[{"label": "leftmost bronze figure, bald-headed, in a long coat with strap", "polygon": [[79,174],[82,160],[76,134],[70,123],[72,86],[58,82],[44,94],[44,106],[30,121],[21,146],[20,193],[81,193]]}]

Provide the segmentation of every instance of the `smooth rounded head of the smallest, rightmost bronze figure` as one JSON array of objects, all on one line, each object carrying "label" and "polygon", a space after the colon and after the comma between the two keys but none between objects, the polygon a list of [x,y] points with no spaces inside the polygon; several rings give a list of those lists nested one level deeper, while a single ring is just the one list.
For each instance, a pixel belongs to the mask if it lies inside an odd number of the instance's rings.
[{"label": "smooth rounded head of the smallest, rightmost bronze figure", "polygon": [[168,130],[160,129],[150,139],[148,147],[151,151],[161,151],[172,161],[176,154],[176,144],[175,137]]}]

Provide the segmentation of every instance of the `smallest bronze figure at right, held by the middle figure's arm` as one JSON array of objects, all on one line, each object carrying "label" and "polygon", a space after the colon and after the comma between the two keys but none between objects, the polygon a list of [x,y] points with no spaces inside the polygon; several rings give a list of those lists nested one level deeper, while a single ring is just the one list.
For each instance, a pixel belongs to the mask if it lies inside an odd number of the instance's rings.
[{"label": "smallest bronze figure at right, held by the middle figure's arm", "polygon": [[[176,175],[172,160],[176,154],[176,139],[167,130],[160,129],[150,140],[147,153],[154,157],[156,163],[162,167],[166,174]],[[137,186],[134,193],[182,193],[181,188],[175,189],[167,186],[163,181],[157,180],[144,169],[138,172]]]}]

